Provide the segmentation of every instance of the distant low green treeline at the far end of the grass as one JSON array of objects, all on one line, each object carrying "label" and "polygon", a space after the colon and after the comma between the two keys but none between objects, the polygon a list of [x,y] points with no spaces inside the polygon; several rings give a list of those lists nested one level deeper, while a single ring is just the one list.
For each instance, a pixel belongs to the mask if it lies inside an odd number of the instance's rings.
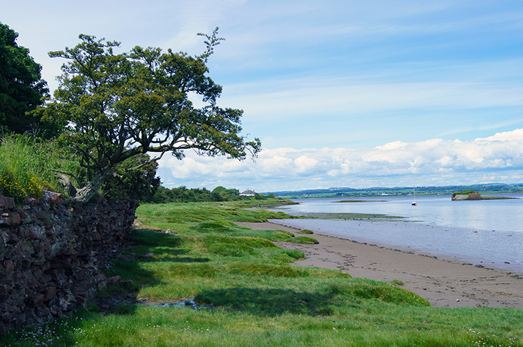
[{"label": "distant low green treeline at the far end of the grass", "polygon": [[[177,188],[158,187],[156,193],[144,199],[148,203],[169,203],[169,202],[201,202],[201,201],[235,201],[241,199],[252,199],[252,196],[240,196],[237,189],[227,189],[219,186],[212,191],[207,188],[187,188],[185,186]],[[267,199],[266,196],[256,194],[254,199]]]}]

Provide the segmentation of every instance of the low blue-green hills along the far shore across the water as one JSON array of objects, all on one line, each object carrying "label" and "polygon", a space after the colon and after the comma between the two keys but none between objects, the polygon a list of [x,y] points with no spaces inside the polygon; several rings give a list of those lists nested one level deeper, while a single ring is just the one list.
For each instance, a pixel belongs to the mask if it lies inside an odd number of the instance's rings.
[{"label": "low blue-green hills along the far shore across the water", "polygon": [[[463,190],[473,190],[481,194],[496,193],[523,193],[523,183],[505,184],[505,183],[488,183],[482,185],[445,185],[415,187],[416,195],[443,195],[452,194],[453,192]],[[333,187],[317,190],[297,190],[283,192],[265,192],[263,194],[273,193],[278,197],[289,199],[299,198],[334,198],[344,196],[407,196],[414,192],[414,187],[370,187],[370,188],[349,188]]]}]

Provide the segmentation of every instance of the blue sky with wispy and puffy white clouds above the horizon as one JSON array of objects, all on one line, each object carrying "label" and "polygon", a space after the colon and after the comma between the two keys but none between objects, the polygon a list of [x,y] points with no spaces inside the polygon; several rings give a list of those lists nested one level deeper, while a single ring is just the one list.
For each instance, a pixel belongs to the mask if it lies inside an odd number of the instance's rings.
[{"label": "blue sky with wispy and puffy white clouds above the horizon", "polygon": [[[165,187],[257,192],[523,182],[523,2],[0,0],[54,91],[47,52],[85,33],[209,59],[252,160],[165,155]],[[197,102],[197,100],[195,100]]]}]

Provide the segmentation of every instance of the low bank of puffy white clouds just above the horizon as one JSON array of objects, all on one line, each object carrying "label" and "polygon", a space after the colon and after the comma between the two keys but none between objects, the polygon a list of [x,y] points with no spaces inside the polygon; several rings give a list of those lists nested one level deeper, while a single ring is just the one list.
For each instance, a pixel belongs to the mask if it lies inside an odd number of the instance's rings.
[{"label": "low bank of puffy white clouds just above the horizon", "polygon": [[393,141],[374,148],[264,149],[255,162],[164,157],[167,187],[251,187],[259,192],[326,187],[450,185],[521,182],[523,129],[472,141]]}]

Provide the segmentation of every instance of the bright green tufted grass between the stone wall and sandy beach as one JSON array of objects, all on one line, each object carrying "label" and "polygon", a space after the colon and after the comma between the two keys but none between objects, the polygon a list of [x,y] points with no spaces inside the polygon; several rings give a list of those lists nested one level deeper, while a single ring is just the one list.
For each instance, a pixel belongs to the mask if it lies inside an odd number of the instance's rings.
[{"label": "bright green tufted grass between the stone wall and sandy beach", "polygon": [[[123,282],[96,298],[131,292],[151,302],[194,299],[201,309],[100,309],[93,300],[69,318],[10,332],[0,346],[523,346],[522,310],[432,308],[400,281],[291,265],[303,253],[273,242],[300,236],[232,223],[273,217],[251,206],[140,206],[143,228],[177,234],[137,229],[135,247],[107,270]],[[146,253],[153,257],[139,257]]]}]

